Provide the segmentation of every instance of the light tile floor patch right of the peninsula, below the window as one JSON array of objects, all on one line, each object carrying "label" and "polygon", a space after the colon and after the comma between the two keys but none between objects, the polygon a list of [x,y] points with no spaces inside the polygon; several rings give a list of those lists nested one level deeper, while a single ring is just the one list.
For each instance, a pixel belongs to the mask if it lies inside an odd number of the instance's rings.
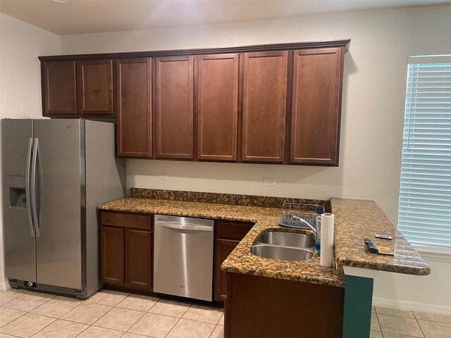
[{"label": "light tile floor patch right of the peninsula, below the window", "polygon": [[373,306],[370,338],[451,338],[451,316]]}]

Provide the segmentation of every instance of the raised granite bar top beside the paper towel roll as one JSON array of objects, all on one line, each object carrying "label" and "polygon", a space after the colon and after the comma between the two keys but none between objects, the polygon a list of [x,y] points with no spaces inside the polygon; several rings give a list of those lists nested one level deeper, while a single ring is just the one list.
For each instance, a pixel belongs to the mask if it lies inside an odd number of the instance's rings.
[{"label": "raised granite bar top beside the paper towel roll", "polygon": [[[338,265],[383,270],[409,275],[429,275],[431,268],[374,201],[365,199],[330,199],[335,214],[335,259]],[[375,234],[393,237],[377,239]],[[364,239],[388,246],[394,256],[369,253]]]}]

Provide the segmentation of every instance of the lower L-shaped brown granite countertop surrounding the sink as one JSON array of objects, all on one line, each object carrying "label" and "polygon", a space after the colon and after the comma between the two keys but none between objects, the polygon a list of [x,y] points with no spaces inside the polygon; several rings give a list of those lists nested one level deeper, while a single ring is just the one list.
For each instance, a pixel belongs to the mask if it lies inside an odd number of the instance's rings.
[{"label": "lower L-shaped brown granite countertop surrounding the sink", "polygon": [[[165,215],[183,215],[197,218],[213,218],[216,220],[237,220],[255,223],[244,239],[238,244],[221,265],[222,270],[231,273],[259,275],[284,280],[311,282],[342,287],[344,277],[333,268],[319,265],[319,257],[314,256],[308,261],[289,262],[277,261],[254,256],[250,247],[261,232],[269,230],[284,230],[278,221],[282,215],[280,208],[264,208],[258,206],[232,206],[226,204],[210,204],[188,201],[170,201],[165,199],[144,199],[129,197],[102,204],[101,210],[123,211],[135,213],[161,213]],[[288,230],[312,234],[309,230]]]}]

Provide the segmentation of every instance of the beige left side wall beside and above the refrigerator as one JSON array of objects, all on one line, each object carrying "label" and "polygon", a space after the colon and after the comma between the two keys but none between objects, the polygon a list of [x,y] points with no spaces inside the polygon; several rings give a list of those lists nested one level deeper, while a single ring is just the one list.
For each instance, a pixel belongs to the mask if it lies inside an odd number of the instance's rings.
[{"label": "beige left side wall beside and above the refrigerator", "polygon": [[[37,56],[60,53],[59,35],[0,13],[0,118],[42,115],[41,70]],[[0,194],[0,214],[2,206]],[[1,222],[2,218],[0,218],[0,289],[4,287]]]}]

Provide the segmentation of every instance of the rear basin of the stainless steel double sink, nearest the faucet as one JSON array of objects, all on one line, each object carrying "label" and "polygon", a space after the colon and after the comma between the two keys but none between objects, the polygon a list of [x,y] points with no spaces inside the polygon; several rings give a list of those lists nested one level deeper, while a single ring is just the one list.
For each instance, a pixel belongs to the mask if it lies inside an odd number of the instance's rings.
[{"label": "rear basin of the stainless steel double sink, nearest the faucet", "polygon": [[277,246],[291,246],[293,248],[314,251],[315,239],[307,234],[296,232],[271,231],[264,232],[255,240],[254,244],[272,244]]}]

